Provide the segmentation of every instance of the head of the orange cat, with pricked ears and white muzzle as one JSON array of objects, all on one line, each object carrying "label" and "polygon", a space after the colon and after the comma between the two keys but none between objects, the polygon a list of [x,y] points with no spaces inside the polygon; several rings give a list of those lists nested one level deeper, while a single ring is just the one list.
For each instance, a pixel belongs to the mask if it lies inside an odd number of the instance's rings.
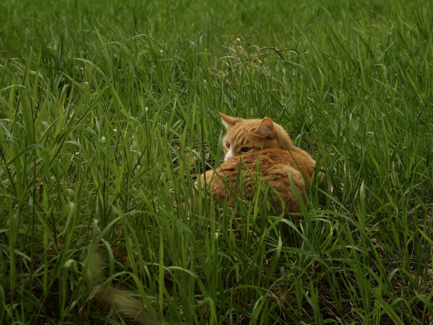
[{"label": "head of the orange cat, with pricked ears and white muzzle", "polygon": [[236,154],[251,153],[269,148],[290,149],[292,140],[277,123],[265,117],[257,120],[244,120],[220,113],[227,132],[223,136],[223,149],[226,158]]}]

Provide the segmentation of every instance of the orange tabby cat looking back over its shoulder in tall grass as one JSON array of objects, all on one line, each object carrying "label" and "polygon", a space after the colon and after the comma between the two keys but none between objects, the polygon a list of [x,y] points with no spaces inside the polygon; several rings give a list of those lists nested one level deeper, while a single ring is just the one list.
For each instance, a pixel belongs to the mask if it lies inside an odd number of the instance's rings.
[{"label": "orange tabby cat looking back over its shoulder in tall grass", "polygon": [[[243,194],[246,192],[246,198],[252,199],[254,180],[250,172],[255,177],[256,162],[260,159],[259,175],[261,176],[261,182],[265,183],[265,180],[267,180],[269,185],[279,192],[289,214],[301,212],[299,203],[289,183],[289,168],[293,182],[305,203],[307,195],[305,181],[308,184],[311,182],[315,160],[304,150],[292,146],[292,141],[287,132],[266,117],[263,120],[244,120],[229,117],[222,113],[220,115],[227,129],[227,133],[223,137],[223,148],[226,157],[225,162],[220,167],[206,172],[206,182],[210,192],[220,201],[227,198],[227,201],[233,204],[233,195],[228,189],[225,189],[225,184],[229,184],[234,190],[239,172],[239,162],[242,157],[243,162],[240,162],[240,169],[244,170],[246,179],[246,188],[243,190]],[[261,149],[262,153],[260,153]],[[204,175],[201,175],[202,184]],[[238,185],[238,195],[240,194],[240,187]],[[281,203],[275,196],[274,202],[275,208],[280,211]],[[293,221],[298,219],[298,217],[294,216],[291,216],[291,218]]]}]

